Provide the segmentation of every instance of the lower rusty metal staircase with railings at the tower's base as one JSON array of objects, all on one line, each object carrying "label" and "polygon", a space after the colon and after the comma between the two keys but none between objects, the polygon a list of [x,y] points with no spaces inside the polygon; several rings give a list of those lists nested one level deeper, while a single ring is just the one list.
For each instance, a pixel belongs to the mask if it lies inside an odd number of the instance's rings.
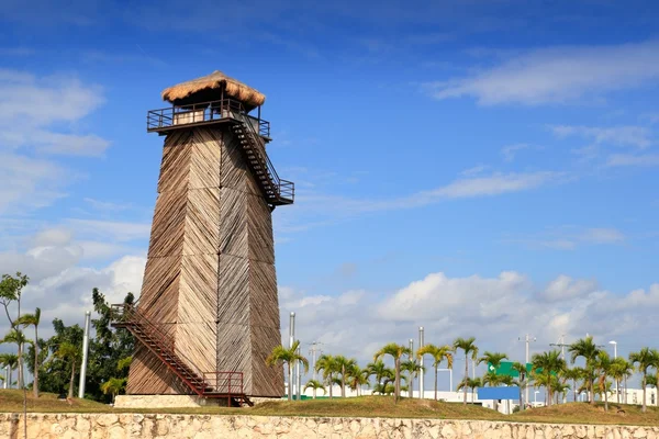
[{"label": "lower rusty metal staircase with railings at the tower's base", "polygon": [[253,406],[243,393],[242,372],[200,372],[192,362],[176,353],[174,339],[139,313],[134,304],[112,305],[114,328],[126,328],[163,361],[190,391],[204,398],[226,398],[228,406]]}]

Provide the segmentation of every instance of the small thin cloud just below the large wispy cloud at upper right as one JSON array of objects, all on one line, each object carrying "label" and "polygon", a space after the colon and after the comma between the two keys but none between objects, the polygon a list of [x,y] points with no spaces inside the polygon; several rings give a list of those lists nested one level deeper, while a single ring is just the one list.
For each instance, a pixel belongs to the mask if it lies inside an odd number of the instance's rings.
[{"label": "small thin cloud just below the large wispy cloud at upper right", "polygon": [[635,146],[637,148],[647,148],[654,144],[652,133],[644,126],[572,126],[556,125],[551,126],[554,134],[560,138],[568,136],[579,136],[595,144],[611,144],[616,146]]}]

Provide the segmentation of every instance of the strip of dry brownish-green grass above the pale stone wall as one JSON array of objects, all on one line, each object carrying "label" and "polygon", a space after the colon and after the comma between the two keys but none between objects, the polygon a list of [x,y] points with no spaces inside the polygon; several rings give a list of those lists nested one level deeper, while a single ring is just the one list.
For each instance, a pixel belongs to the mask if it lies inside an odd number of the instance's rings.
[{"label": "strip of dry brownish-green grass above the pale stone wall", "polygon": [[[429,399],[402,398],[399,404],[390,396],[361,396],[354,398],[305,399],[301,402],[272,401],[252,408],[199,407],[163,409],[120,409],[105,404],[75,398],[70,404],[58,401],[57,395],[44,393],[38,399],[27,393],[27,410],[40,413],[171,413],[205,415],[263,415],[263,416],[311,416],[311,417],[388,417],[388,418],[433,418],[433,419],[489,419],[517,423],[548,424],[624,424],[659,425],[659,408],[648,407],[640,413],[640,406],[618,406],[610,404],[604,412],[603,404],[591,406],[585,403],[560,404],[552,407],[534,408],[511,416],[501,415],[489,408],[459,403],[443,403]],[[625,413],[618,413],[618,408]],[[23,392],[0,390],[0,412],[20,413],[23,410]]]}]

